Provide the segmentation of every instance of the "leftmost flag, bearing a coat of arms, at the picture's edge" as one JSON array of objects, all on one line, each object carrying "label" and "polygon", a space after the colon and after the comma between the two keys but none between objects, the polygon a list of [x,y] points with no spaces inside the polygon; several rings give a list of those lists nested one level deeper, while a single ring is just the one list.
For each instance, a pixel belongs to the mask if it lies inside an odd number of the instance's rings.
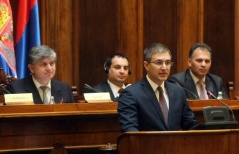
[{"label": "leftmost flag, bearing a coat of arms, at the picture's edge", "polygon": [[0,68],[16,77],[15,63],[12,9],[9,0],[0,0]]}]

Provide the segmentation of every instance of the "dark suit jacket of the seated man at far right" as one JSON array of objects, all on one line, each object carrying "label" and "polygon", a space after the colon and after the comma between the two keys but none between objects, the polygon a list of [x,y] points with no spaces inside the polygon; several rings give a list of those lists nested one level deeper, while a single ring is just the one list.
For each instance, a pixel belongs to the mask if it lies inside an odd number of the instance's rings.
[{"label": "dark suit jacket of the seated man at far right", "polygon": [[[190,74],[189,69],[185,70],[184,72],[180,72],[178,74],[172,75],[168,79],[168,81],[178,83],[183,88],[185,88],[184,91],[185,91],[186,97],[188,99],[199,99],[199,95],[197,93],[197,88],[196,88],[196,85],[194,84],[194,81]],[[213,74],[207,74],[205,82],[206,82],[206,89],[208,91],[212,92],[214,96],[217,97],[218,92],[222,91],[223,98],[228,98],[227,92],[223,88],[222,78],[220,78],[216,75],[213,75]],[[213,99],[213,97],[210,97],[210,99]]]}]

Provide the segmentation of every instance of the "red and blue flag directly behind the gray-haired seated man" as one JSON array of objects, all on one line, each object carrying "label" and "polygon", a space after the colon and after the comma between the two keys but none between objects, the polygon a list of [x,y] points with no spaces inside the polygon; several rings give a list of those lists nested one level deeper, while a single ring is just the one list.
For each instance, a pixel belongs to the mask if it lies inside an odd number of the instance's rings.
[{"label": "red and blue flag directly behind the gray-haired seated man", "polygon": [[37,0],[19,0],[16,24],[15,52],[17,77],[30,75],[27,67],[29,50],[41,44]]}]

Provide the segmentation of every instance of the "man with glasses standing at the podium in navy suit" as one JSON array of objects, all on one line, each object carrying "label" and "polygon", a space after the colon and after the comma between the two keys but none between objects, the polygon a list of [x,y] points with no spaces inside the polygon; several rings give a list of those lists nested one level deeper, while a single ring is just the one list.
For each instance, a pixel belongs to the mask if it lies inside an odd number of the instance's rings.
[{"label": "man with glasses standing at the podium in navy suit", "polygon": [[121,132],[199,129],[182,87],[167,82],[172,66],[170,50],[153,43],[144,50],[147,75],[124,89],[119,97]]}]

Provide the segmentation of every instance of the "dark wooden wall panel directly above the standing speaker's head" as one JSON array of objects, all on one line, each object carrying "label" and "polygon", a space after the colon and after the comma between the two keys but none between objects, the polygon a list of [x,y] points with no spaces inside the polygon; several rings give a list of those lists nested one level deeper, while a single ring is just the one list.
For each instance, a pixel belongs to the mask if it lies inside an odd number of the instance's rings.
[{"label": "dark wooden wall panel directly above the standing speaker's head", "polygon": [[[160,42],[172,52],[173,61],[177,64],[177,1],[147,0],[144,1],[144,47]],[[177,67],[172,67],[171,73]]]}]

